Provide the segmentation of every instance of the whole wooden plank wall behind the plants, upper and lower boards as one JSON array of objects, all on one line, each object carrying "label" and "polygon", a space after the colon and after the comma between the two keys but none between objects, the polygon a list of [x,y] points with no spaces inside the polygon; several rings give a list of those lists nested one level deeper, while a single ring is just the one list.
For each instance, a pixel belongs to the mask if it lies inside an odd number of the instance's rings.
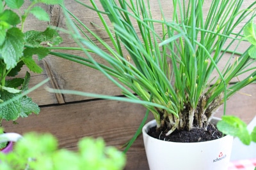
[{"label": "whole wooden plank wall behind the plants, upper and lower boards", "polygon": [[[244,4],[252,3],[253,0]],[[27,2],[27,1],[26,1]],[[150,1],[152,13],[159,17],[157,11],[157,1]],[[170,10],[170,3],[163,0],[164,10]],[[67,8],[81,18],[84,23],[93,22],[99,24],[95,13],[85,10],[74,1],[65,1]],[[89,4],[86,0],[84,3]],[[43,6],[51,15],[51,22],[38,22],[34,17],[29,17],[26,26],[29,29],[44,30],[47,25],[65,27],[65,20],[59,6]],[[206,6],[205,8],[209,8]],[[207,9],[205,9],[207,10]],[[97,28],[95,28],[97,29]],[[104,35],[97,30],[102,36]],[[61,46],[76,46],[67,35],[63,35],[64,43]],[[106,37],[108,38],[108,37]],[[243,49],[246,44],[239,48]],[[80,52],[74,52],[83,55]],[[42,74],[32,74],[31,84],[36,85],[46,78],[51,78],[47,86],[58,89],[81,90],[99,94],[120,95],[120,90],[113,83],[107,80],[99,72],[88,67],[80,66],[74,62],[48,56],[38,62],[44,68]],[[24,68],[20,76],[24,76]],[[250,94],[250,96],[248,95]],[[45,91],[44,87],[29,94],[33,100],[41,107],[39,115],[31,115],[28,118],[19,118],[19,124],[3,122],[3,126],[8,132],[51,132],[60,141],[60,148],[76,150],[76,143],[84,136],[102,137],[108,145],[113,145],[122,150],[122,145],[126,143],[136,128],[140,125],[144,117],[145,108],[138,104],[122,103],[118,101],[105,101],[91,99],[89,97],[57,95]],[[255,117],[256,110],[256,85],[249,85],[241,90],[228,101],[227,113],[241,117],[246,123]],[[216,116],[220,117],[222,108]],[[152,115],[148,120],[152,119]],[[125,169],[148,169],[147,158],[143,148],[141,136],[136,140],[132,148],[127,153],[127,166]]]}]

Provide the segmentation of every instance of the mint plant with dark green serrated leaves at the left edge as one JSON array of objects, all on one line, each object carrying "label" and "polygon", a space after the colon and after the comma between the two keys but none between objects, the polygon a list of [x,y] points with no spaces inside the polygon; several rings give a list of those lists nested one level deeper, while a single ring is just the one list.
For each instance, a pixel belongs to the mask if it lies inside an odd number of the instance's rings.
[{"label": "mint plant with dark green serrated leaves at the left edge", "polygon": [[38,55],[38,60],[43,59],[50,52],[47,46],[58,45],[61,38],[58,32],[51,28],[25,32],[24,23],[28,15],[49,21],[49,15],[38,5],[58,3],[61,1],[30,1],[28,8],[24,9],[23,0],[0,1],[0,125],[3,120],[15,121],[19,117],[28,117],[31,113],[40,112],[38,105],[27,94],[47,80],[29,89],[29,72],[24,78],[17,75],[24,65],[34,73],[42,73],[42,68],[36,64],[33,55]]}]

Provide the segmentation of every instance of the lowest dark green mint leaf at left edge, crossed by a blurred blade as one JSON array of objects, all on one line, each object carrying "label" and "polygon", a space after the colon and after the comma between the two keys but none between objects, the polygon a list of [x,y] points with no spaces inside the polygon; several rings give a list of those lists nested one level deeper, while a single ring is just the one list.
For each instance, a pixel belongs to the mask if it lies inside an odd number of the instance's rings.
[{"label": "lowest dark green mint leaf at left edge, crossed by a blurred blade", "polygon": [[[8,101],[12,97],[18,94],[12,94],[6,90],[0,90],[0,96],[3,101]],[[16,120],[19,117],[20,109],[22,108],[20,99],[13,101],[12,103],[6,104],[0,108],[0,118],[5,120]]]}]

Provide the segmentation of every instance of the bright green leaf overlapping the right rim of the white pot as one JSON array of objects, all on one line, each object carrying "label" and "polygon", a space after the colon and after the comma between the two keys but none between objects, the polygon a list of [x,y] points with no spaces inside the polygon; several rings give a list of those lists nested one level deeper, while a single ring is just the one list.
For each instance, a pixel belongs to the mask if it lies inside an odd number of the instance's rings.
[{"label": "bright green leaf overlapping the right rim of the white pot", "polygon": [[217,124],[219,131],[223,134],[229,134],[231,136],[238,137],[244,145],[250,145],[251,136],[247,129],[247,125],[238,117],[235,116],[223,116]]}]

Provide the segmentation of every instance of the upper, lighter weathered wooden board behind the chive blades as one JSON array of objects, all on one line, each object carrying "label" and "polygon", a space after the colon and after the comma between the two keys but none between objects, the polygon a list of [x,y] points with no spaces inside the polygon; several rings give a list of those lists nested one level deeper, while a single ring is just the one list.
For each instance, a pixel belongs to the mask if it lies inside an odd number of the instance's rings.
[{"label": "upper, lighter weathered wooden board behind the chive blades", "polygon": [[[90,4],[88,0],[84,0],[82,2]],[[244,6],[250,2],[252,2],[252,0],[246,1]],[[97,3],[99,2],[97,1]],[[150,11],[154,18],[161,18],[158,3],[155,1],[150,1],[150,3],[152,5]],[[165,13],[172,13],[173,6],[171,6],[169,1],[161,0],[161,3],[164,4],[163,10]],[[107,42],[109,41],[106,33],[104,33],[104,31],[100,28],[100,20],[97,17],[97,13],[86,9],[81,4],[74,3],[73,1],[65,1],[65,4],[68,10],[72,11],[72,13],[74,13],[74,15],[76,15],[84,24],[87,24],[88,27],[94,29],[95,32],[97,32],[97,34],[99,34],[102,38],[106,39]],[[51,22],[38,22],[35,20],[35,17],[29,15],[25,24],[25,27],[27,27],[26,30],[36,29],[43,31],[47,25],[54,25],[64,29],[67,28],[67,23],[65,22],[65,18],[60,9],[60,6],[44,5],[42,8],[45,8],[45,10],[49,12],[51,16]],[[205,11],[209,10],[209,8],[210,4],[206,4]],[[156,29],[160,31],[160,25],[156,25]],[[70,36],[64,34],[63,32],[60,32],[60,34],[63,37],[63,43],[61,46],[77,46],[76,43],[74,43],[74,40],[70,38]],[[246,46],[248,46],[248,44],[240,45],[239,50],[243,50],[246,48]],[[72,54],[84,56],[84,53],[79,51],[72,51]],[[99,59],[99,57],[97,60],[104,63],[104,61]],[[111,81],[109,81],[104,75],[99,73],[99,71],[95,71],[89,67],[84,67],[74,62],[70,62],[59,57],[53,57],[51,55],[46,57],[44,60],[39,61],[38,63],[43,67],[44,72],[42,74],[33,74],[33,77],[31,78],[31,86],[49,77],[51,78],[51,81],[47,83],[47,86],[57,89],[81,90],[84,92],[108,94],[114,96],[121,94],[120,89],[113,85],[113,83],[111,83]],[[225,62],[221,62],[220,67],[224,66]],[[24,68],[23,71],[25,72],[26,68]],[[217,73],[215,75],[218,76]],[[36,103],[40,105],[57,103],[63,104],[91,99],[90,97],[49,94],[44,90],[43,87],[31,93],[30,96],[33,97]]]}]

